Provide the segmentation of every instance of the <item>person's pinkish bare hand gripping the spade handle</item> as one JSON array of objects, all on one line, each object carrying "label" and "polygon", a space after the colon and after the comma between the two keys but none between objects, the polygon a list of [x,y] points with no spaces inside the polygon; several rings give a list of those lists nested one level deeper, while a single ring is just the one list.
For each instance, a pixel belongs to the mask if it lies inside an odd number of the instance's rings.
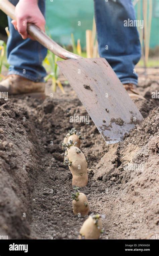
[{"label": "person's pinkish bare hand gripping the spade handle", "polygon": [[30,37],[27,33],[27,23],[35,24],[45,32],[45,18],[39,9],[38,0],[19,0],[15,7],[15,15],[16,21],[13,20],[11,23],[23,39]]}]

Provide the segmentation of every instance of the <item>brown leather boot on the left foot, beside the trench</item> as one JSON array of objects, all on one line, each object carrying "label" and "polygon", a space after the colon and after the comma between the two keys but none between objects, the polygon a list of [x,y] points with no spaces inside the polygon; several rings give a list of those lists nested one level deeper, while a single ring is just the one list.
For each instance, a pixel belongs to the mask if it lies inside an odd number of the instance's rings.
[{"label": "brown leather boot on the left foot, beside the trench", "polygon": [[45,98],[45,83],[35,83],[20,75],[8,75],[0,82],[0,92],[8,95],[26,95]]}]

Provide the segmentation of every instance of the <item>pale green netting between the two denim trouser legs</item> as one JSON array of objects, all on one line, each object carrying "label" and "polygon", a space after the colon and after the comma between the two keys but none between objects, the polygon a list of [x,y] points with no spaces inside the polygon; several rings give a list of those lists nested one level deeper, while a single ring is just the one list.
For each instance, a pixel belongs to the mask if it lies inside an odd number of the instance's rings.
[{"label": "pale green netting between the two denim trouser legs", "polygon": [[[47,0],[46,20],[52,38],[61,44],[70,44],[70,35],[86,45],[86,29],[92,29],[93,0]],[[81,22],[81,26],[78,26]]]}]

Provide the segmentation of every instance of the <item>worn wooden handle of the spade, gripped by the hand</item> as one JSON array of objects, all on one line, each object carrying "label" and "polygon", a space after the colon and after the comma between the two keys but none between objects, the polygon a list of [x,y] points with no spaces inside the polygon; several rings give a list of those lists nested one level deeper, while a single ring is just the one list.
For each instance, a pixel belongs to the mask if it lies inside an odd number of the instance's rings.
[{"label": "worn wooden handle of the spade, gripped by the hand", "polygon": [[[0,0],[0,9],[4,13],[6,13],[12,20],[16,20],[15,6],[11,4],[8,0]],[[63,49],[60,45],[58,45],[54,40],[52,40],[47,34],[41,31],[34,24],[28,23],[27,31],[28,34],[31,35],[35,40],[37,40],[52,53],[64,60],[82,58],[81,56],[70,53],[67,50]]]}]

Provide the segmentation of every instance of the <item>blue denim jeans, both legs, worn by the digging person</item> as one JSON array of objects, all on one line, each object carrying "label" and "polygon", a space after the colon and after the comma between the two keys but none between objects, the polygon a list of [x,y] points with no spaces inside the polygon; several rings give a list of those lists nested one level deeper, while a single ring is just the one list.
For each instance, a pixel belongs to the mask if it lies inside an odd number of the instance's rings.
[{"label": "blue denim jeans, both legs, worn by the digging person", "polygon": [[[10,0],[14,5],[18,0]],[[135,65],[141,57],[141,45],[136,27],[124,27],[124,20],[136,20],[131,0],[94,0],[100,57],[106,58],[122,83],[137,85]],[[44,14],[45,0],[39,0]],[[31,39],[23,40],[10,18],[7,43],[9,74],[18,74],[35,82],[43,81],[46,71],[42,61],[47,50]],[[108,50],[106,50],[108,45]],[[26,73],[23,73],[26,70]]]}]

